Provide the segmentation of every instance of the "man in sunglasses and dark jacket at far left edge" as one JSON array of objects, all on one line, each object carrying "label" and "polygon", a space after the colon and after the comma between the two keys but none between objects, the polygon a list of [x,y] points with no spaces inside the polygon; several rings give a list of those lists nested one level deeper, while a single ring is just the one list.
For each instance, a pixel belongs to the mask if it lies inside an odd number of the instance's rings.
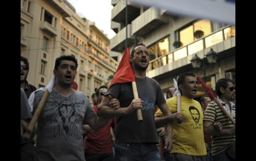
[{"label": "man in sunglasses and dark jacket at far left edge", "polygon": [[20,88],[24,89],[27,98],[29,99],[29,96],[32,92],[37,90],[37,88],[31,84],[28,83],[27,77],[29,73],[29,62],[28,59],[21,56],[20,57]]}]

